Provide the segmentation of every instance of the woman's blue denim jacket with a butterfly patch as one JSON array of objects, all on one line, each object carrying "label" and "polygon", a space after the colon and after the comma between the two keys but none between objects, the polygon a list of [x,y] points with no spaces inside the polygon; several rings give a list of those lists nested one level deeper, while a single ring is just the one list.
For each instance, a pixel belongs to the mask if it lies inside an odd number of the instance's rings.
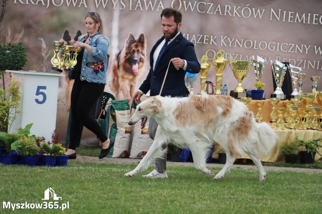
[{"label": "woman's blue denim jacket with a butterfly patch", "polygon": [[[81,36],[78,41],[84,42],[89,34]],[[92,53],[84,49],[84,56],[81,62],[81,80],[88,82],[106,84],[107,71],[107,51],[109,49],[109,40],[102,34],[97,32],[90,36],[87,43],[92,47]],[[104,60],[104,63],[102,63]],[[96,71],[96,72],[95,72]],[[68,73],[69,80],[75,79],[73,72]]]}]

